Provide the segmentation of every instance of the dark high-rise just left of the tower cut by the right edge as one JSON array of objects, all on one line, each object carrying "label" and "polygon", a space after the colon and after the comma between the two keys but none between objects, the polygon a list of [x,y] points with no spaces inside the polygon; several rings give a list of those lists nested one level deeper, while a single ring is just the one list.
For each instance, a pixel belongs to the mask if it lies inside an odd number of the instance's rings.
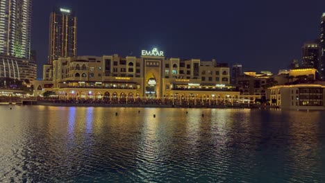
[{"label": "dark high-rise just left of the tower cut by the right edge", "polygon": [[308,42],[301,47],[302,66],[319,70],[320,48],[317,42]]}]

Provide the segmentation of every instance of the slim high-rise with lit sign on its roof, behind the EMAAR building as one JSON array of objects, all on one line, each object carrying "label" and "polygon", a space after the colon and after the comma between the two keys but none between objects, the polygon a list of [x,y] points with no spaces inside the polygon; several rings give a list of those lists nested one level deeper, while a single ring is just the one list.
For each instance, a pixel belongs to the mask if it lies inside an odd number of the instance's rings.
[{"label": "slim high-rise with lit sign on its roof, behind the EMAAR building", "polygon": [[58,58],[76,56],[76,17],[71,10],[51,12],[49,26],[49,64]]}]

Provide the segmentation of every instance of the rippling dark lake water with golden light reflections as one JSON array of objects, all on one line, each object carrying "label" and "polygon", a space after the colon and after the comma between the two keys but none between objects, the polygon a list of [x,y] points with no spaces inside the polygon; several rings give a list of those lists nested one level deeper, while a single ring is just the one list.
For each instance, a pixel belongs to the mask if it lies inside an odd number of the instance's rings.
[{"label": "rippling dark lake water with golden light reflections", "polygon": [[0,182],[325,182],[325,112],[0,105]]}]

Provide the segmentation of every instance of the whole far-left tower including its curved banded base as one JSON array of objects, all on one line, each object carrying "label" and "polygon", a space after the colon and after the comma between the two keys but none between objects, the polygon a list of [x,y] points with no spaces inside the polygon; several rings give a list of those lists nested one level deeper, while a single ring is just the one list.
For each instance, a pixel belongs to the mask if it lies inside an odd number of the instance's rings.
[{"label": "whole far-left tower including its curved banded base", "polygon": [[31,56],[31,0],[0,0],[0,78],[36,79]]}]

